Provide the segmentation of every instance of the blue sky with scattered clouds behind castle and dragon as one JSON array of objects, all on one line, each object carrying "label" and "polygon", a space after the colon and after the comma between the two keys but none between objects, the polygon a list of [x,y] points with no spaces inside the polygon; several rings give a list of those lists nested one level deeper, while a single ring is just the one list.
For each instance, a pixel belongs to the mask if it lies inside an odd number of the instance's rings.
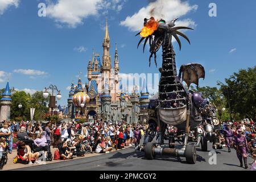
[{"label": "blue sky with scattered clouds behind castle and dragon", "polygon": [[[179,25],[191,26],[194,31],[185,34],[191,45],[181,40],[181,51],[174,42],[176,64],[191,62],[205,67],[205,80],[200,86],[216,86],[241,68],[256,63],[256,1],[196,1],[196,0],[3,0],[0,3],[0,88],[7,77],[10,86],[26,92],[43,90],[55,84],[61,90],[61,105],[67,104],[72,81],[82,72],[87,81],[86,67],[92,49],[102,56],[105,18],[108,17],[110,54],[114,59],[114,45],[118,44],[121,73],[158,73],[148,67],[148,50],[137,50],[137,29],[143,26],[144,14],[155,5],[166,20],[180,18]],[[46,3],[46,17],[38,16],[38,4]],[[217,17],[208,14],[209,3],[217,5]],[[166,6],[170,6],[166,7]],[[137,15],[134,15],[137,14]],[[159,16],[159,12],[155,12]],[[150,15],[148,15],[150,16]],[[138,18],[139,17],[139,18]],[[149,18],[149,17],[148,17]],[[158,65],[161,64],[158,53]]]}]

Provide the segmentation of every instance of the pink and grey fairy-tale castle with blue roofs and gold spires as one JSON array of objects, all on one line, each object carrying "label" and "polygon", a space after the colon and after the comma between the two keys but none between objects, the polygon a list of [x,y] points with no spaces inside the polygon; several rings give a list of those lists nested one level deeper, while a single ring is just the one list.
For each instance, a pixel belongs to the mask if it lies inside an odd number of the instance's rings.
[{"label": "pink and grey fairy-tale castle with blue roofs and gold spires", "polygon": [[[103,55],[94,53],[87,67],[88,82],[71,84],[68,98],[68,116],[72,119],[86,121],[103,119],[103,121],[126,121],[127,123],[146,122],[149,93],[146,80],[141,93],[134,85],[133,92],[127,93],[119,77],[119,57],[115,45],[114,65],[110,56],[110,37],[106,20],[105,36],[102,43]],[[84,104],[85,103],[85,104]]]}]

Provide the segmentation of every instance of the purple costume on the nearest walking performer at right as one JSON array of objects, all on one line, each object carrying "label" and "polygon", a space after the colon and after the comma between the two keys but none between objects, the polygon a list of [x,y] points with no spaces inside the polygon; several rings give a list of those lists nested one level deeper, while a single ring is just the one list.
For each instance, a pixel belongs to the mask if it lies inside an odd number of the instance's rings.
[{"label": "purple costume on the nearest walking performer at right", "polygon": [[248,148],[245,135],[237,135],[234,142],[237,146],[237,158],[242,160],[243,156],[247,156],[246,148]]}]

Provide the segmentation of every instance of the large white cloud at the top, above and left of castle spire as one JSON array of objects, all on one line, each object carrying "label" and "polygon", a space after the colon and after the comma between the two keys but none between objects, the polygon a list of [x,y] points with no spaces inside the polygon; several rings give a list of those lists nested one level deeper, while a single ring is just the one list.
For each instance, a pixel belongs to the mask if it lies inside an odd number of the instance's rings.
[{"label": "large white cloud at the top, above and left of castle spire", "polygon": [[[108,10],[121,11],[126,0],[57,0],[56,3],[49,2],[47,16],[55,19],[60,24],[67,24],[75,28],[83,24],[88,16],[107,15]],[[60,25],[58,26],[60,27]]]}]

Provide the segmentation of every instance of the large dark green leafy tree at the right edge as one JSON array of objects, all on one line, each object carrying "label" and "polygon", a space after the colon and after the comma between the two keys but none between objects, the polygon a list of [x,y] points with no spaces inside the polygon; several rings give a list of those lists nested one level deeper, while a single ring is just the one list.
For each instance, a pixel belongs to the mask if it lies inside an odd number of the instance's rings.
[{"label": "large dark green leafy tree at the right edge", "polygon": [[226,78],[225,83],[218,81],[217,84],[234,118],[256,118],[256,66],[240,69]]}]

